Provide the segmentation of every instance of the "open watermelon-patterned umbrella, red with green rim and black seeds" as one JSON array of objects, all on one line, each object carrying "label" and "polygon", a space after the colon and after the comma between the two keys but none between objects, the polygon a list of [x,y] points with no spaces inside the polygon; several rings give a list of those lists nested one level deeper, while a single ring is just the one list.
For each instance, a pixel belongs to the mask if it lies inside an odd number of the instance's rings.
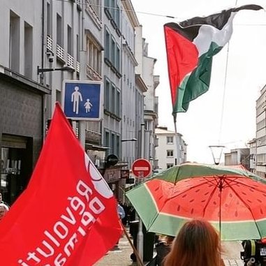
[{"label": "open watermelon-patterned umbrella, red with green rim and black seeds", "polygon": [[177,165],[126,193],[147,231],[176,235],[205,219],[222,240],[266,237],[266,179],[242,166]]}]

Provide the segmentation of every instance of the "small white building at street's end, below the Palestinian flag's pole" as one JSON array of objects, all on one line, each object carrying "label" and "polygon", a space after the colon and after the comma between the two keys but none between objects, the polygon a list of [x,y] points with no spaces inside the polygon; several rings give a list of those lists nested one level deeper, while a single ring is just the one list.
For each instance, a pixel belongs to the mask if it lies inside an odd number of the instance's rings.
[{"label": "small white building at street's end, below the Palestinian flag's pole", "polygon": [[[156,147],[156,170],[165,170],[186,162],[186,142],[180,133],[168,131],[167,127],[158,126],[155,130],[158,138]],[[177,152],[178,149],[178,152]]]}]

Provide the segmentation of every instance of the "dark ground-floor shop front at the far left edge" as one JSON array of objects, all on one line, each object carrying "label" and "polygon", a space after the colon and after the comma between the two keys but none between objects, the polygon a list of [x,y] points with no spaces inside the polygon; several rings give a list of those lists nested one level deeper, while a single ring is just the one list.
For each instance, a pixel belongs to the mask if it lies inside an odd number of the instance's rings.
[{"label": "dark ground-floor shop front at the far left edge", "polygon": [[7,69],[0,73],[0,192],[10,205],[26,188],[40,154],[49,92]]}]

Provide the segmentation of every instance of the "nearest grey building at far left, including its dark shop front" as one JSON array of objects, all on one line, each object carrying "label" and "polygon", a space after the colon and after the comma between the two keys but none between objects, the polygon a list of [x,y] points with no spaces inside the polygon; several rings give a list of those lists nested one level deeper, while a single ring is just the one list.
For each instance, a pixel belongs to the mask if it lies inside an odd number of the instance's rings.
[{"label": "nearest grey building at far left, including its dark shop front", "polygon": [[0,184],[12,204],[25,189],[45,137],[45,95],[41,64],[42,2],[2,1],[0,10]]}]

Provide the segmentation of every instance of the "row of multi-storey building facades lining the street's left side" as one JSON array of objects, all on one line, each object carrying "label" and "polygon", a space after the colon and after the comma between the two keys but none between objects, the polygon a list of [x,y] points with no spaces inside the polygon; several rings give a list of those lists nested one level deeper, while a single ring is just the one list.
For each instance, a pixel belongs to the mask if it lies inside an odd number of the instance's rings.
[{"label": "row of multi-storey building facades lining the street's left side", "polygon": [[[131,1],[31,0],[21,5],[20,0],[4,0],[0,14],[0,190],[4,199],[12,203],[27,185],[54,104],[64,104],[66,80],[102,82],[103,119],[71,122],[87,154],[121,198],[124,178],[141,156],[144,112],[150,122],[145,131],[149,133],[147,158],[154,157],[152,138],[158,118],[156,59],[147,56],[147,44],[136,34],[140,24]],[[140,62],[144,68],[136,71]],[[145,94],[151,107],[144,107]],[[108,158],[117,163],[108,163]],[[10,179],[10,175],[20,177]]]}]

